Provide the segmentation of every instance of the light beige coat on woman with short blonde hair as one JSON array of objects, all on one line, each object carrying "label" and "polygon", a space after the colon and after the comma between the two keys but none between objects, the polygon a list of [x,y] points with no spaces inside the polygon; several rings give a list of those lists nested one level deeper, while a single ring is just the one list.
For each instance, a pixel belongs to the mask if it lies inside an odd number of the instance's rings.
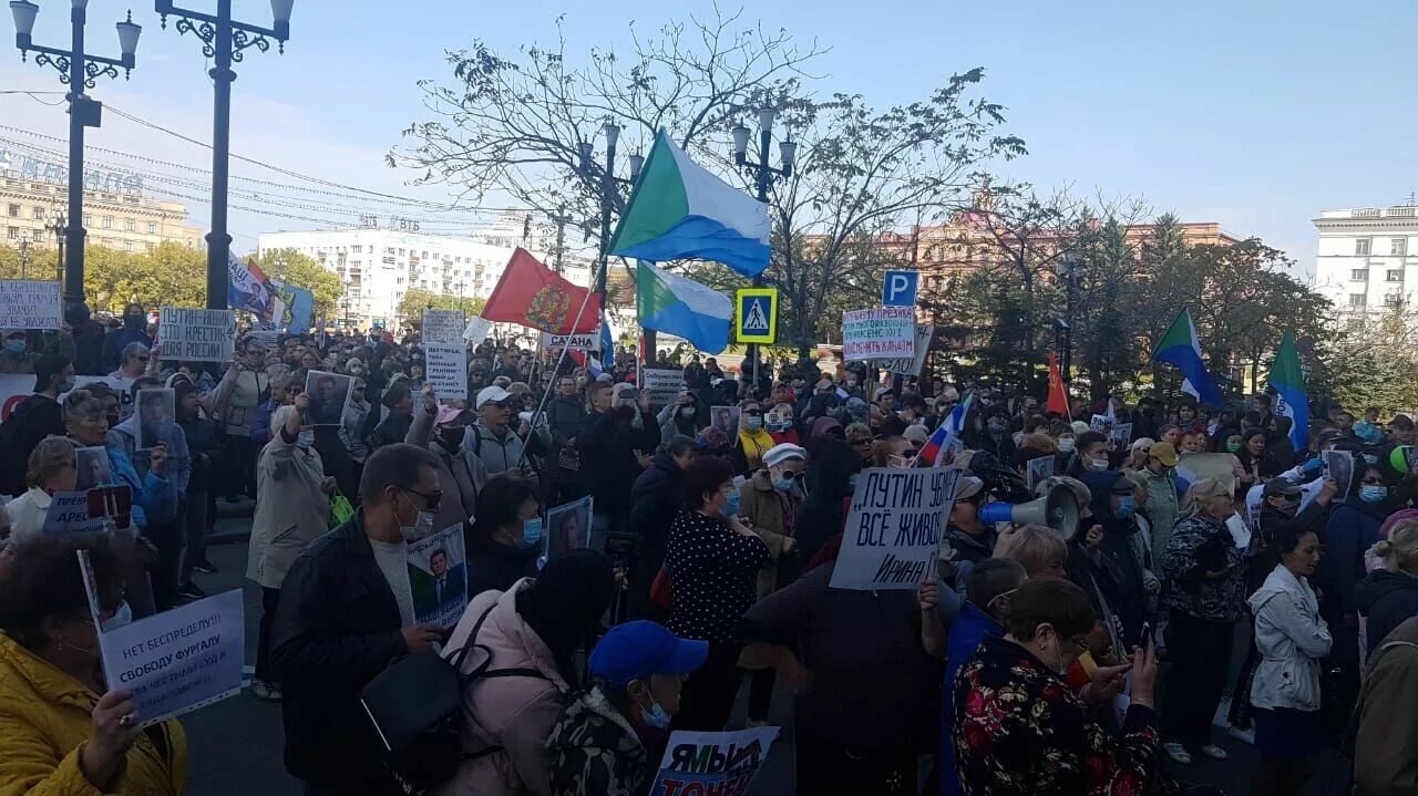
[{"label": "light beige coat on woman with short blonde hair", "polygon": [[281,429],[294,406],[271,418],[275,432],[257,460],[257,516],[251,521],[247,578],[279,589],[286,571],[329,530],[330,499],[320,491],[325,466],[315,448],[302,450]]}]

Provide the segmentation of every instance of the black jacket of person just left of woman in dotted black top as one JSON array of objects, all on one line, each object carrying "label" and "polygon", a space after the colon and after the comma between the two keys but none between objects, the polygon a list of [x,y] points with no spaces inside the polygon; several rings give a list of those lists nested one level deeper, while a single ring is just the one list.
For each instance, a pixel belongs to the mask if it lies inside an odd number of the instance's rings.
[{"label": "black jacket of person just left of woman in dotted black top", "polygon": [[669,523],[679,507],[683,470],[669,453],[655,453],[649,469],[635,479],[630,491],[630,533],[635,535],[640,555],[630,572],[625,598],[630,616],[664,622],[666,616],[649,601],[649,585],[665,564]]}]

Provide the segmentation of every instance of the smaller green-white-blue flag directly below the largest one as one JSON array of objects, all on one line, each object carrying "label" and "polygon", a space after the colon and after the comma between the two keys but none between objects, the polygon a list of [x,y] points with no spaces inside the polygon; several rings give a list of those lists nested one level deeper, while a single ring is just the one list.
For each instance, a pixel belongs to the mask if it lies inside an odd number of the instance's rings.
[{"label": "smaller green-white-blue flag directly below the largest one", "polygon": [[693,279],[641,261],[635,276],[635,307],[641,329],[678,334],[706,354],[729,347],[733,302]]}]

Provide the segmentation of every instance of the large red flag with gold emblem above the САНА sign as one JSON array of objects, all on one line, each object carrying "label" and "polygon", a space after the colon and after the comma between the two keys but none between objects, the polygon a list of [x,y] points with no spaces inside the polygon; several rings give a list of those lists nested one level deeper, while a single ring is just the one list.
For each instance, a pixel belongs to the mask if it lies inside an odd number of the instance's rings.
[{"label": "large red flag with gold emblem above the \u0421\u0410\u041d\u0410 sign", "polygon": [[[601,320],[601,297],[588,288],[571,285],[530,252],[518,248],[492,289],[482,317],[502,323],[520,323],[552,334],[594,331]],[[586,309],[581,310],[581,302]],[[576,316],[580,313],[580,323]]]}]

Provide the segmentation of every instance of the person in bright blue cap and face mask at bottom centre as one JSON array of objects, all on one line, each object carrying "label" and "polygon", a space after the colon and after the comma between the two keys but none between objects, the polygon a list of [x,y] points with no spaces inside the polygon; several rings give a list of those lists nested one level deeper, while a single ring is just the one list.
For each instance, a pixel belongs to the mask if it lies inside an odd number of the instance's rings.
[{"label": "person in bright blue cap and face mask at bottom centre", "polygon": [[594,686],[552,727],[552,796],[642,795],[669,741],[669,720],[709,642],[681,639],[654,622],[617,625],[591,650]]}]

